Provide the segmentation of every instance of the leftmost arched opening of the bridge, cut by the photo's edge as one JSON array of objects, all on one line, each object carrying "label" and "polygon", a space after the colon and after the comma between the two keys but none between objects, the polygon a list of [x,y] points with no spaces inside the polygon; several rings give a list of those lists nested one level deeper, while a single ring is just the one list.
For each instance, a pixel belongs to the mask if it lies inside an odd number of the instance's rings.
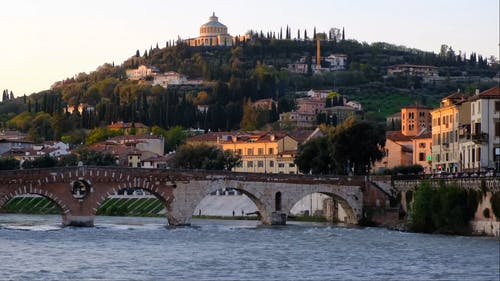
[{"label": "leftmost arched opening of the bridge, cut by the photo's edge", "polygon": [[67,210],[53,194],[17,194],[0,198],[0,226],[23,230],[54,230],[62,227]]}]

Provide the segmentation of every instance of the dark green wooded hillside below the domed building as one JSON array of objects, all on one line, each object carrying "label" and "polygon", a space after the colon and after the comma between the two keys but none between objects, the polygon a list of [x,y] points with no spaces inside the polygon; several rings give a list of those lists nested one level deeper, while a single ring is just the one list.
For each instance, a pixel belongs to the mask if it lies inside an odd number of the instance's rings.
[{"label": "dark green wooded hillside below the domed building", "polygon": [[[258,117],[257,125],[262,125],[293,108],[296,93],[309,89],[335,89],[361,102],[366,118],[382,121],[416,101],[435,106],[441,97],[457,89],[472,93],[476,88],[489,88],[495,83],[491,78],[498,73],[498,65],[488,65],[475,54],[469,58],[456,55],[451,48],[434,54],[387,43],[345,40],[322,41],[321,55],[346,54],[347,69],[313,75],[310,69],[315,53],[314,41],[258,36],[233,47],[167,44],[144,51],[142,56],[137,51],[122,65],[104,64],[92,73],[59,81],[50,90],[5,100],[0,104],[0,121],[3,128],[28,132],[37,141],[66,136],[81,142],[82,129],[117,121],[162,128],[181,125],[233,130],[244,118],[245,101],[279,101],[278,112]],[[301,58],[308,64],[308,73],[286,69]],[[164,89],[148,81],[127,80],[125,70],[142,64],[159,72],[176,71],[190,79],[203,79],[204,83]],[[424,83],[407,75],[387,77],[387,67],[395,64],[435,66],[444,79]],[[65,108],[79,104],[87,107],[81,114],[64,113]],[[208,106],[208,111],[200,112],[198,105]]]}]

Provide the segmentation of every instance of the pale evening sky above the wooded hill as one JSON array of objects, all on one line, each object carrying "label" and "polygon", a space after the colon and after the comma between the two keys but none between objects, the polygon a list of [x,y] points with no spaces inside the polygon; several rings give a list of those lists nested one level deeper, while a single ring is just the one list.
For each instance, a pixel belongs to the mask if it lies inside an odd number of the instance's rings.
[{"label": "pale evening sky above the wooded hill", "polygon": [[231,35],[344,27],[359,42],[500,56],[498,0],[4,0],[0,11],[0,89],[16,96],[196,37],[212,12]]}]

